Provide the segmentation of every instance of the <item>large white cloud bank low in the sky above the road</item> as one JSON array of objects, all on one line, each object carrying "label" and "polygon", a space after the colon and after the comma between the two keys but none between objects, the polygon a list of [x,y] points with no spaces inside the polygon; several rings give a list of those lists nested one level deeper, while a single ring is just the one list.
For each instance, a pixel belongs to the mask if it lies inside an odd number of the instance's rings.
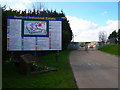
[{"label": "large white cloud bank low in the sky above the road", "polygon": [[107,36],[114,30],[118,30],[118,21],[107,20],[106,26],[98,26],[96,23],[67,15],[75,42],[99,41],[99,32],[104,31]]}]

